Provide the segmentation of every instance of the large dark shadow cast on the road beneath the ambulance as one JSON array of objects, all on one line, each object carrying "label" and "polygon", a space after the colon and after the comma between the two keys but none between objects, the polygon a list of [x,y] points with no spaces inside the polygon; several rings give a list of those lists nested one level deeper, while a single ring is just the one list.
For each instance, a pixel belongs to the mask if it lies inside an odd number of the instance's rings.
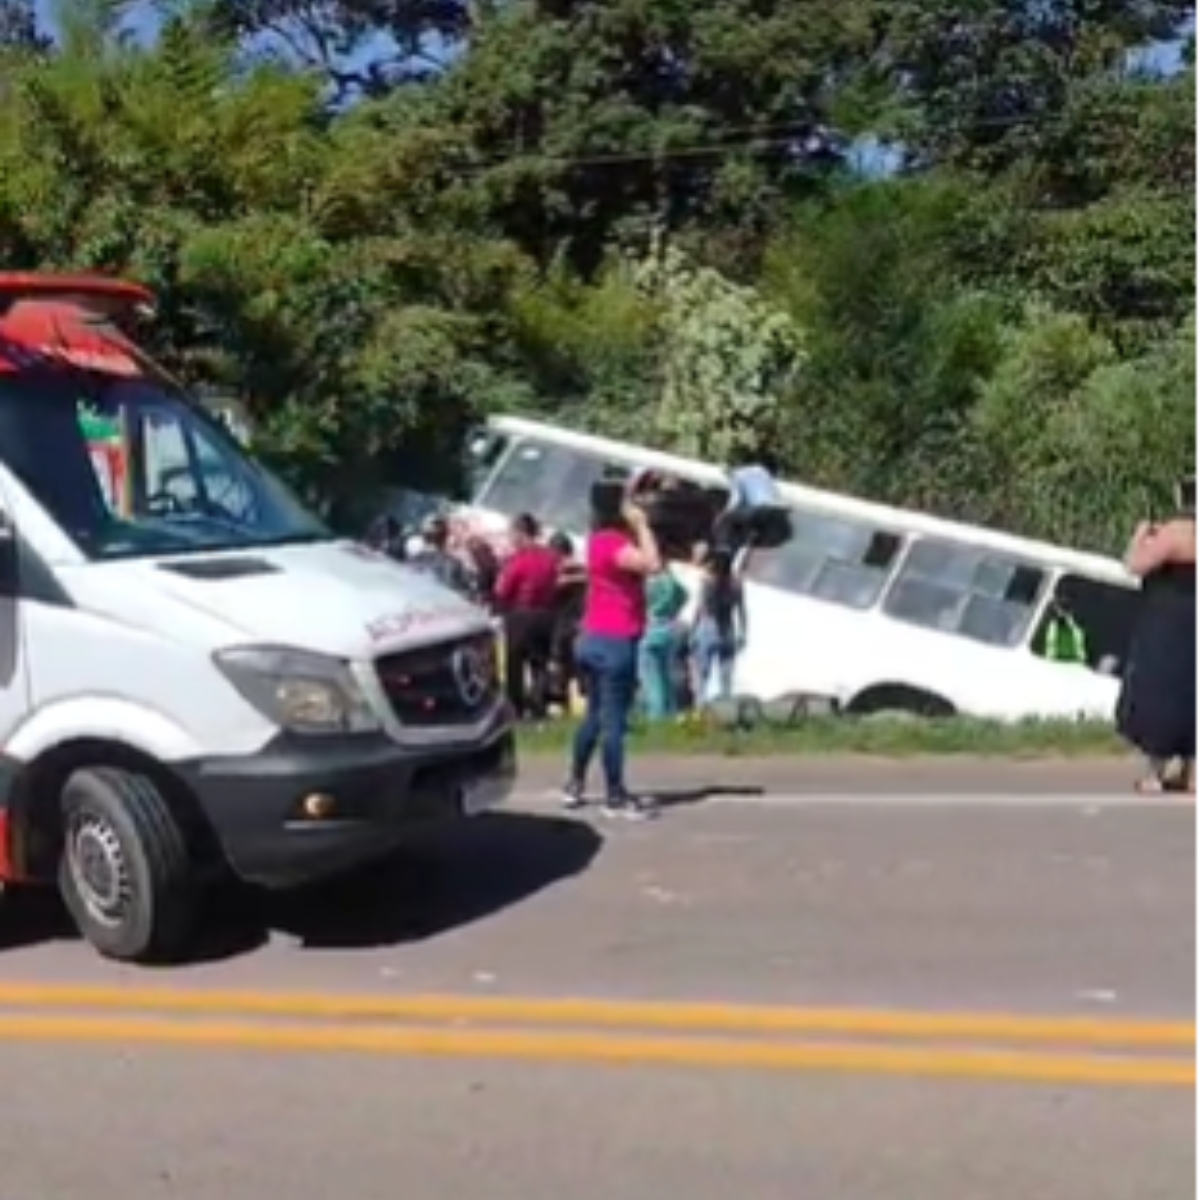
[{"label": "large dark shadow cast on the road beneath the ambulance", "polygon": [[[602,845],[564,817],[493,814],[419,835],[401,853],[292,893],[229,888],[215,898],[191,962],[251,953],[272,932],[311,949],[424,941],[482,920],[587,870]],[[0,950],[74,938],[55,895],[0,901]]]}]

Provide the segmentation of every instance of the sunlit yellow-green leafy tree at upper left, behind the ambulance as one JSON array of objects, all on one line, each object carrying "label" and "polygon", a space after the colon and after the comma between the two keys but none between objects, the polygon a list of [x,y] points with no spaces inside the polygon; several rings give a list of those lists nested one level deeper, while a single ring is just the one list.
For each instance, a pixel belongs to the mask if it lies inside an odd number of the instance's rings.
[{"label": "sunlit yellow-green leafy tree at upper left, behind the ambulance", "polygon": [[414,426],[440,431],[444,451],[503,390],[486,323],[449,295],[486,274],[482,258],[464,268],[461,247],[364,205],[319,80],[247,66],[180,19],[152,49],[80,42],[14,82],[0,110],[11,252],[155,286],[158,349],[241,396],[263,444],[306,478],[361,480]]}]

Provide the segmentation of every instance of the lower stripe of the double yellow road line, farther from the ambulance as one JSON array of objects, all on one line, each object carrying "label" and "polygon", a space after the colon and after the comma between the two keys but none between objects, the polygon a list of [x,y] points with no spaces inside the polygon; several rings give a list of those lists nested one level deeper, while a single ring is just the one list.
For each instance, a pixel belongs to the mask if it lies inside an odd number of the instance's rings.
[{"label": "lower stripe of the double yellow road line, farther from the ambulance", "polygon": [[1194,1087],[1195,1063],[1164,1058],[917,1046],[797,1045],[502,1030],[428,1030],[113,1016],[0,1016],[0,1040],[340,1051],[557,1063],[740,1067],[1038,1084]]}]

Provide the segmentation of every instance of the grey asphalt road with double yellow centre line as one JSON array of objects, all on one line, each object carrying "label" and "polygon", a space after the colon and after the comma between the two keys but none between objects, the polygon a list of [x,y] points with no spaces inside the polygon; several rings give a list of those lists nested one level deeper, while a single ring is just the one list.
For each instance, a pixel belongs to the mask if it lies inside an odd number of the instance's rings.
[{"label": "grey asphalt road with double yellow centre line", "polygon": [[0,907],[0,1198],[1183,1200],[1194,812],[995,790],[533,794],[170,972]]}]

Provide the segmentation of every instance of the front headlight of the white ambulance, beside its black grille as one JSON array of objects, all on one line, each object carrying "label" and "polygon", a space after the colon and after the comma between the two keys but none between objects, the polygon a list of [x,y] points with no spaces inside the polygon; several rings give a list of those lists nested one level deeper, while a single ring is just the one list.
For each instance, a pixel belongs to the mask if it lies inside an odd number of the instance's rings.
[{"label": "front headlight of the white ambulance, beside its black grille", "polygon": [[293,733],[370,733],[379,720],[341,659],[270,646],[218,650],[214,661],[241,697]]}]

